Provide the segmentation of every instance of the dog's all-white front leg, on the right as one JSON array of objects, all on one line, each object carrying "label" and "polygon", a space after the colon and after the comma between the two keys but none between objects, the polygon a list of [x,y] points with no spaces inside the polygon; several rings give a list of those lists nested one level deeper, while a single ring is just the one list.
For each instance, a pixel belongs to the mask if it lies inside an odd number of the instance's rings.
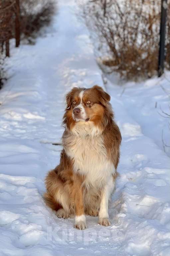
[{"label": "dog's all-white front leg, on the right", "polygon": [[110,177],[109,181],[107,184],[103,187],[103,190],[101,192],[101,202],[100,202],[100,209],[99,209],[99,220],[98,224],[103,225],[103,226],[109,226],[110,221],[109,221],[109,215],[108,215],[108,200],[109,197],[114,189],[114,181],[113,178]]}]

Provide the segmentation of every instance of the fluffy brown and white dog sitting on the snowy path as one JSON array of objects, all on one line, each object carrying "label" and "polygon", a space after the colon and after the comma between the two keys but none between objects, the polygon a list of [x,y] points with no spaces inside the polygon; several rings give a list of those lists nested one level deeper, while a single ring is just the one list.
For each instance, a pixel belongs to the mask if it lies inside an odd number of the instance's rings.
[{"label": "fluffy brown and white dog sitting on the snowy path", "polygon": [[113,120],[110,96],[99,86],[73,88],[66,96],[60,164],[46,177],[44,197],[59,218],[75,215],[85,229],[85,214],[110,225],[108,200],[115,187],[121,134]]}]

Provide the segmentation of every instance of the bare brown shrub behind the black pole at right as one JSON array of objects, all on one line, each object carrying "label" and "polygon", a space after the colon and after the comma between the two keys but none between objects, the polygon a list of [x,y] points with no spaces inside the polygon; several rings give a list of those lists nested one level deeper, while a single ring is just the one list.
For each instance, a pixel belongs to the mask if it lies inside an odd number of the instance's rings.
[{"label": "bare brown shrub behind the black pole at right", "polygon": [[[86,24],[97,36],[102,63],[132,79],[151,77],[158,69],[160,0],[90,0],[83,6]],[[170,3],[168,1],[168,9]],[[170,13],[166,66],[170,59]]]}]

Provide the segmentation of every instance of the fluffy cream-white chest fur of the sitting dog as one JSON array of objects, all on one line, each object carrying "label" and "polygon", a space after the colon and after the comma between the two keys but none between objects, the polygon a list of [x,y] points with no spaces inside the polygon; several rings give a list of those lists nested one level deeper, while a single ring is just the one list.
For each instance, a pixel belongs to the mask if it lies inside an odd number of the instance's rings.
[{"label": "fluffy cream-white chest fur of the sitting dog", "polygon": [[83,136],[71,135],[64,139],[66,153],[74,160],[74,171],[86,176],[85,182],[102,186],[115,168],[107,158],[101,136],[90,136],[88,129]]}]

